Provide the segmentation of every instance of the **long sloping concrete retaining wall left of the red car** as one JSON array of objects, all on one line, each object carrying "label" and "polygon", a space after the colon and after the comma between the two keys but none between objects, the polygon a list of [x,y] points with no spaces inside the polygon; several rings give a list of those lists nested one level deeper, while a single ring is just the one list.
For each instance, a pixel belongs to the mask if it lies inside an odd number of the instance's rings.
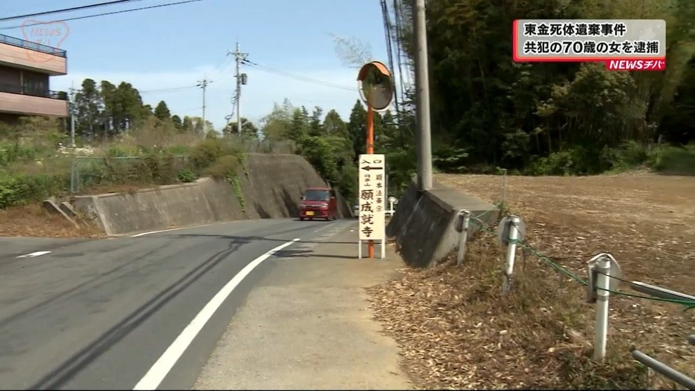
[{"label": "long sloping concrete retaining wall left of the red car", "polygon": [[[297,217],[304,190],[326,186],[298,155],[250,153],[244,166],[238,172],[240,189],[227,181],[202,178],[132,194],[75,197],[72,204],[108,235],[122,235],[238,219]],[[352,217],[342,197],[338,201],[341,217]]]}]

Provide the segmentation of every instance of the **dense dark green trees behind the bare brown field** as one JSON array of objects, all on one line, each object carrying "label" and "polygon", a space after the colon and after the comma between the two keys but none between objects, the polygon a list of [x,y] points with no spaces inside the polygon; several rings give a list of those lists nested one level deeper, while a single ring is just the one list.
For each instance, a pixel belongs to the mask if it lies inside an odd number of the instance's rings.
[{"label": "dense dark green trees behind the bare brown field", "polygon": [[[400,44],[412,59],[411,5],[402,6]],[[614,159],[597,156],[616,156],[628,141],[653,142],[662,119],[678,116],[673,103],[682,99],[679,88],[687,83],[695,50],[694,15],[695,3],[682,0],[646,0],[639,7],[630,0],[428,3],[435,165],[455,171],[503,165],[535,173],[557,165],[568,174],[611,168]],[[665,19],[669,69],[607,72],[592,64],[512,63],[509,26],[532,17]],[[407,101],[411,91],[405,95]],[[412,113],[404,114],[398,116],[400,138],[408,143]]]}]

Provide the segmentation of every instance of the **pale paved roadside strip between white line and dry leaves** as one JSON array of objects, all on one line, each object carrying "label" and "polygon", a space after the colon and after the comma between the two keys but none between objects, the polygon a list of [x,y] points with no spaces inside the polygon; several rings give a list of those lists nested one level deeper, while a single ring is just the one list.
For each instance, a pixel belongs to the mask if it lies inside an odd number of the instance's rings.
[{"label": "pale paved roadside strip between white line and dry leaves", "polygon": [[357,259],[358,228],[329,228],[324,242],[269,260],[194,390],[413,389],[364,289],[397,278],[402,260],[391,247],[386,259]]}]

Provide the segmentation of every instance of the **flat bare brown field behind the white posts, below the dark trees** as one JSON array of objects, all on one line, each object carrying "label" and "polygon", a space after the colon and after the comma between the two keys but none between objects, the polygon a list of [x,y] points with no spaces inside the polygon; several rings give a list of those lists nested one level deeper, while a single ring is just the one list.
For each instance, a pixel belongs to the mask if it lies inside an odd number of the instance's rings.
[{"label": "flat bare brown field behind the white posts, below the dark trees", "polygon": [[[486,201],[503,197],[502,176],[439,175],[436,180]],[[548,256],[607,252],[630,281],[695,288],[694,177],[507,176],[506,201],[510,211],[531,223],[534,247]],[[586,263],[566,266],[586,274]]]}]

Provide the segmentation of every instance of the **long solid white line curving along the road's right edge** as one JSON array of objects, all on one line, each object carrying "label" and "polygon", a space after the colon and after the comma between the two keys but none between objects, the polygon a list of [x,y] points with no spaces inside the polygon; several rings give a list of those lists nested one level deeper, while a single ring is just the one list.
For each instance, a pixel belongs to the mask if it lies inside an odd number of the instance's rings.
[{"label": "long solid white line curving along the road's right edge", "polygon": [[241,269],[240,272],[236,274],[229,282],[222,287],[220,292],[217,292],[215,294],[215,297],[213,297],[208,303],[203,307],[202,310],[198,313],[198,315],[195,315],[192,321],[186,326],[186,328],[183,328],[183,331],[181,331],[181,334],[172,342],[172,344],[167,348],[167,350],[159,357],[159,359],[152,365],[152,368],[147,371],[147,374],[145,376],[142,376],[140,381],[138,381],[138,384],[133,388],[133,390],[156,390],[159,385],[162,383],[164,378],[169,374],[169,371],[174,367],[174,365],[177,363],[179,358],[181,358],[181,355],[183,354],[184,351],[188,348],[188,345],[190,345],[190,342],[193,342],[195,339],[196,335],[200,333],[202,330],[203,326],[210,320],[210,318],[215,314],[215,311],[222,306],[222,303],[224,303],[224,300],[229,297],[232,291],[234,291],[234,288],[236,288],[243,279],[248,276],[253,269],[256,268],[256,266],[261,265],[261,263],[270,258],[274,253],[277,251],[284,249],[285,247],[290,246],[291,244],[295,242],[299,242],[300,238],[296,238],[292,240],[291,242],[286,242],[284,244],[279,245],[278,247],[275,247],[275,249],[272,249],[268,251],[267,253],[264,253],[262,256],[259,256],[258,258],[254,259],[246,265],[243,269]]}]

